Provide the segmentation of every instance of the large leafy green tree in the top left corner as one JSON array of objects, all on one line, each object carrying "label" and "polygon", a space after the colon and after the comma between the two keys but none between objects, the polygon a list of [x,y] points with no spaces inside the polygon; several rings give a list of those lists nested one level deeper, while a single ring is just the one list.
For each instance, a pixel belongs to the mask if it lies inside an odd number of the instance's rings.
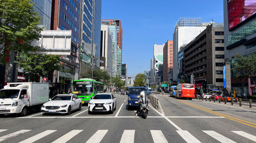
[{"label": "large leafy green tree in the top left corner", "polygon": [[42,28],[40,16],[33,9],[31,0],[0,0],[0,64],[6,63],[8,51],[35,51],[30,43],[38,39]]}]

